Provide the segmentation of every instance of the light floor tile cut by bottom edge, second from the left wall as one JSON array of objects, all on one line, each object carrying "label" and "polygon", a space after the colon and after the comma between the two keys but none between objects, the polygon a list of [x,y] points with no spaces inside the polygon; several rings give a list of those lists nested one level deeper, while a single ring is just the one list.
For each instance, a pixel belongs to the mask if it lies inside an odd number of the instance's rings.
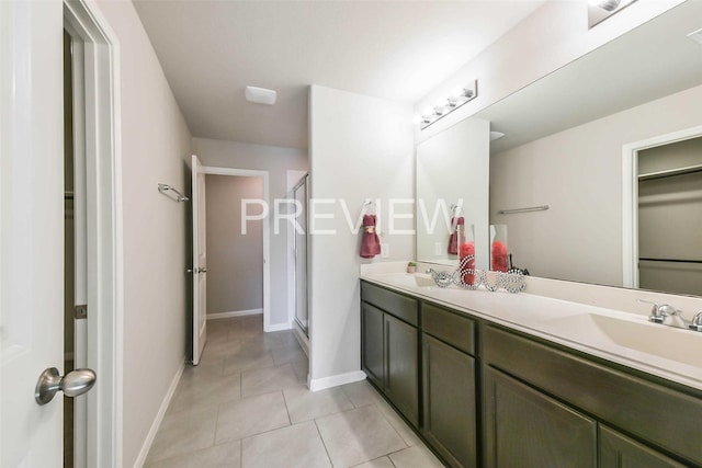
[{"label": "light floor tile cut by bottom edge, second from the left wall", "polygon": [[242,468],[331,468],[314,421],[247,437]]}]

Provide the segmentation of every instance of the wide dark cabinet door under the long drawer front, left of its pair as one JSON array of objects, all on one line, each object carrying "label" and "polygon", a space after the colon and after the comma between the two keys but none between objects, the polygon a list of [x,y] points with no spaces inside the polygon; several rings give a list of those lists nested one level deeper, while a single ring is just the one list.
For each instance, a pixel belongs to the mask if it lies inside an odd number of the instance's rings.
[{"label": "wide dark cabinet door under the long drawer front, left of its pair", "polygon": [[518,380],[485,368],[486,467],[595,467],[597,424]]}]

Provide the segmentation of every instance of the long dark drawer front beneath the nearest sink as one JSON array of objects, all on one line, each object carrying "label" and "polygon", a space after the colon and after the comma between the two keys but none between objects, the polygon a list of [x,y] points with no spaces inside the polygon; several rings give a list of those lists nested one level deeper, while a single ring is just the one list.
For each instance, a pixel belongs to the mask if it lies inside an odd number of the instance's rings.
[{"label": "long dark drawer front beneath the nearest sink", "polygon": [[699,391],[679,391],[494,326],[485,327],[483,357],[490,367],[702,465],[702,444],[691,436],[702,421]]}]

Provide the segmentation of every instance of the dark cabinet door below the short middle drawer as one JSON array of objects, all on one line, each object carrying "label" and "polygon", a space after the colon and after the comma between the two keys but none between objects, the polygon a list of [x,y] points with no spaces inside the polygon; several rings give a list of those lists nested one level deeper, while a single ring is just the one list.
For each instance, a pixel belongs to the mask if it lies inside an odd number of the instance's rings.
[{"label": "dark cabinet door below the short middle drawer", "polygon": [[475,361],[422,334],[422,433],[454,467],[475,467]]}]

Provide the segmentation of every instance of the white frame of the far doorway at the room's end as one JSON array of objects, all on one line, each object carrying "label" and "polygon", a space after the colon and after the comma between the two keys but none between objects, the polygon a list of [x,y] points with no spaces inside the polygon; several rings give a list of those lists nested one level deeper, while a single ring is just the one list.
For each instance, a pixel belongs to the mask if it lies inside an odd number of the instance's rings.
[{"label": "white frame of the far doorway at the room's end", "polygon": [[[263,181],[263,202],[269,207],[269,216],[263,218],[263,331],[279,331],[290,329],[290,323],[282,326],[271,324],[271,196],[270,196],[270,173],[252,169],[233,169],[204,165],[205,175],[237,175],[245,178],[261,178]],[[206,215],[205,215],[206,216]]]}]

